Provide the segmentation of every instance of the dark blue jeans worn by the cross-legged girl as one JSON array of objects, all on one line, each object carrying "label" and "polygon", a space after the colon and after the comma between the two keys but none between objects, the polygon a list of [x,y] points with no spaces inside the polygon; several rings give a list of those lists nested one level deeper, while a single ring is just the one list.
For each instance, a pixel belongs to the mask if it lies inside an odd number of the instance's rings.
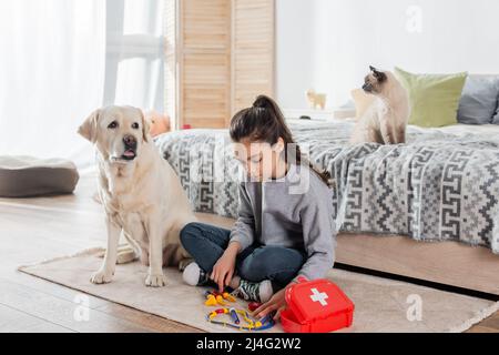
[{"label": "dark blue jeans worn by the cross-legged girl", "polygon": [[[227,247],[230,235],[230,230],[192,222],[182,229],[180,239],[197,265],[210,275]],[[276,292],[296,276],[305,261],[304,251],[254,244],[237,255],[236,274],[249,282],[269,280]]]}]

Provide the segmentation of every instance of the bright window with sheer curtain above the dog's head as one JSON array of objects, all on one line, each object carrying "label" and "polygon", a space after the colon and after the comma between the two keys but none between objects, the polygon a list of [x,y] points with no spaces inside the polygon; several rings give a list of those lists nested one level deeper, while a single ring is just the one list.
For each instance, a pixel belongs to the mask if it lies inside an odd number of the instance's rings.
[{"label": "bright window with sheer curtain above the dog's head", "polygon": [[104,104],[163,111],[164,1],[106,1]]}]

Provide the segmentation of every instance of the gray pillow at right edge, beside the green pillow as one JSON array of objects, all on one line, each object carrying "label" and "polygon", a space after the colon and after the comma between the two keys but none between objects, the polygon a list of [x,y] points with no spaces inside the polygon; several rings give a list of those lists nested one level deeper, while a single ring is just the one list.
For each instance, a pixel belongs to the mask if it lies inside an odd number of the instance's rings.
[{"label": "gray pillow at right edge, beside the green pillow", "polygon": [[469,75],[466,79],[459,102],[458,122],[465,124],[492,123],[492,116],[496,114],[498,106],[498,75]]}]

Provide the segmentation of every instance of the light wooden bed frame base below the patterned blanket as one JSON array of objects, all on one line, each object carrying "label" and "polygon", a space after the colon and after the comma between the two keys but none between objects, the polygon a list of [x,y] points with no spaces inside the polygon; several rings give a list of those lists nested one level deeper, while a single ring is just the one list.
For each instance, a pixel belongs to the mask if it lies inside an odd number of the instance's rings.
[{"label": "light wooden bed frame base below the patterned blanket", "polygon": [[[230,229],[233,219],[197,213],[201,222]],[[407,236],[339,234],[336,262],[499,296],[499,255],[458,242]]]}]

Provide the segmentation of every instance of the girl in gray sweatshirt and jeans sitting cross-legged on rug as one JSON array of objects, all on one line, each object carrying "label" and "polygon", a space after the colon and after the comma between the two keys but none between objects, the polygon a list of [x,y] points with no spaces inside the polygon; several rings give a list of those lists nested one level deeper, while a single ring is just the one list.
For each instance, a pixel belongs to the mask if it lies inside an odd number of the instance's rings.
[{"label": "girl in gray sweatshirt and jeans sitting cross-legged on rug", "polygon": [[255,316],[275,311],[277,318],[288,285],[298,276],[324,277],[333,267],[329,175],[302,156],[279,108],[265,95],[234,115],[230,134],[246,173],[238,217],[232,230],[197,222],[182,229],[182,245],[194,258],[183,278],[190,285],[214,282],[221,292],[230,286],[263,303]]}]

